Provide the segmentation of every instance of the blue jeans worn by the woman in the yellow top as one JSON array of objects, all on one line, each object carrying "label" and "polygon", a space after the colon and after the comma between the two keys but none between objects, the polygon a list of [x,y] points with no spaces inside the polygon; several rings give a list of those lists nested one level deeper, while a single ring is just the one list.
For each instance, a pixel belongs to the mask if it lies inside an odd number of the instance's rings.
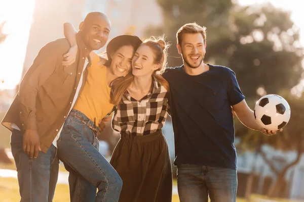
[{"label": "blue jeans worn by the woman in the yellow top", "polygon": [[72,110],[65,120],[57,146],[58,158],[69,171],[71,201],[119,199],[123,182],[99,153],[97,133],[98,127],[77,110]]}]

